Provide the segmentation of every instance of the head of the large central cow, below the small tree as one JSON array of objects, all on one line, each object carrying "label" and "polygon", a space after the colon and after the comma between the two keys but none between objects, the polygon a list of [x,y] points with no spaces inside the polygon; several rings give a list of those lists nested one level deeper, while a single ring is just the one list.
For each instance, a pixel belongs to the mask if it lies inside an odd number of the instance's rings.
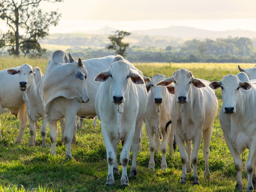
[{"label": "head of the large central cow, below the small tree", "polygon": [[125,102],[125,93],[127,91],[128,81],[132,81],[134,84],[144,84],[143,79],[132,72],[129,64],[127,64],[121,56],[114,58],[110,68],[104,72],[99,73],[94,81],[104,82],[109,81],[110,90],[112,92],[111,101],[115,104],[122,104]]}]

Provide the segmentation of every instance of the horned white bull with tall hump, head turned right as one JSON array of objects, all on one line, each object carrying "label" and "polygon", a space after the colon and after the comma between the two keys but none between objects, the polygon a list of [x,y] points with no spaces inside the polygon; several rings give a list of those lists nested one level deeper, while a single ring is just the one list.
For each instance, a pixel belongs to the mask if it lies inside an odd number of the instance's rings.
[{"label": "horned white bull with tall hump, head turned right", "polygon": [[39,93],[49,123],[51,154],[56,154],[57,121],[65,118],[64,141],[66,155],[71,159],[71,142],[80,103],[88,102],[87,71],[82,60],[69,63],[66,52],[56,50],[47,64]]}]

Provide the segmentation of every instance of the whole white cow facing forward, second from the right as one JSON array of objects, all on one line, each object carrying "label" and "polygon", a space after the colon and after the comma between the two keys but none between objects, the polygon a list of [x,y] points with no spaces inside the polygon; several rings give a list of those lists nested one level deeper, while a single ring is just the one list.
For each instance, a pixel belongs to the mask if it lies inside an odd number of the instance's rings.
[{"label": "whole white cow facing forward, second from the right", "polygon": [[[177,140],[182,163],[181,183],[187,182],[187,170],[191,171],[191,141],[193,140],[193,185],[199,184],[197,175],[198,150],[201,144],[202,132],[204,138],[204,176],[210,175],[208,158],[209,145],[212,136],[213,120],[218,110],[218,101],[214,91],[209,87],[210,82],[196,79],[192,73],[184,68],[173,73],[170,78],[156,85],[170,86],[169,92],[174,94],[171,103],[172,129]],[[184,141],[187,143],[186,150]]]}]

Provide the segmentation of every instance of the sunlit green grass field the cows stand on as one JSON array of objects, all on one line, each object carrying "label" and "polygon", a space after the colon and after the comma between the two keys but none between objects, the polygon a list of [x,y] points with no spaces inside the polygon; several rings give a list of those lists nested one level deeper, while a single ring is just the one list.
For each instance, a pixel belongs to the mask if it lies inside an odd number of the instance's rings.
[{"label": "sunlit green grass field the cows stand on", "polygon": [[[48,60],[27,58],[0,58],[0,69],[19,66],[28,63],[39,66],[44,72]],[[220,80],[222,76],[230,73],[236,75],[239,71],[237,64],[225,63],[134,63],[144,76],[163,74],[171,76],[179,68],[192,71],[196,78],[208,81]],[[240,64],[242,68],[252,67],[253,64]],[[219,109],[222,103],[220,90],[216,91]],[[42,122],[39,122],[41,126]],[[21,144],[15,144],[19,131],[19,118],[10,115],[8,111],[1,116],[1,129],[3,139],[0,140],[0,191],[233,191],[236,185],[236,170],[233,158],[224,140],[218,115],[214,121],[212,140],[210,144],[209,169],[210,179],[204,178],[203,146],[198,155],[199,186],[192,186],[192,173],[188,174],[187,184],[180,184],[181,162],[179,149],[173,153],[172,158],[167,152],[167,171],[161,171],[161,153],[155,154],[155,170],[148,170],[149,149],[148,136],[143,126],[142,151],[138,153],[137,179],[129,179],[130,186],[120,187],[120,176],[114,175],[113,186],[106,186],[108,165],[106,150],[101,135],[100,122],[92,127],[92,121],[86,120],[81,133],[77,133],[76,145],[72,145],[73,160],[65,157],[66,147],[61,145],[61,132],[59,129],[57,140],[57,155],[50,156],[50,134],[47,129],[47,148],[41,148],[40,132],[37,130],[36,146],[28,147],[28,125],[24,132]],[[118,159],[122,146],[118,145]],[[130,154],[132,158],[132,153]],[[248,150],[242,154],[245,163]],[[130,171],[131,162],[128,164]],[[122,167],[119,166],[120,173]],[[243,171],[244,186],[247,183],[247,174]],[[39,188],[39,185],[41,188]],[[245,191],[245,189],[244,189]]]}]

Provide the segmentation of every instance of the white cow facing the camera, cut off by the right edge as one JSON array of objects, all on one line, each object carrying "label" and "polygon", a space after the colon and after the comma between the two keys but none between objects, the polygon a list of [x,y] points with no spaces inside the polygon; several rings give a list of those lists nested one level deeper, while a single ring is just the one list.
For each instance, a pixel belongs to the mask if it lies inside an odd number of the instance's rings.
[{"label": "white cow facing the camera, cut off by the right edge", "polygon": [[[241,74],[239,75],[241,76]],[[221,81],[213,81],[212,89],[221,87],[223,104],[220,109],[220,124],[228,148],[233,156],[237,172],[236,189],[243,190],[243,163],[240,154],[245,148],[249,149],[245,164],[247,172],[246,191],[253,191],[256,184],[255,155],[256,155],[256,85],[242,82],[238,76],[229,74]]]}]

